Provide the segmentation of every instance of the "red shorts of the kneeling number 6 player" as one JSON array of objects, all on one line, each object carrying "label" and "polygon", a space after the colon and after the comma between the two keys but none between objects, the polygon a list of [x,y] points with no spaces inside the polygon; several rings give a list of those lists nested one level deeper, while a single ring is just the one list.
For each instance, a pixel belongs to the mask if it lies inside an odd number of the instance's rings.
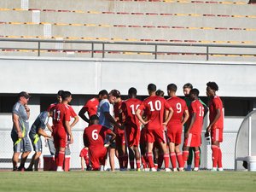
[{"label": "red shorts of the kneeling number 6 player", "polygon": [[105,165],[107,148],[89,148],[90,163],[93,171],[99,171]]}]

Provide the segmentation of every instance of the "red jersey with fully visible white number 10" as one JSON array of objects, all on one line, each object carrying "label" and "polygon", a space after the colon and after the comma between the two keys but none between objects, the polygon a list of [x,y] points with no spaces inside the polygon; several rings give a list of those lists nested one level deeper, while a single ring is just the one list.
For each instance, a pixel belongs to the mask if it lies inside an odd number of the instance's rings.
[{"label": "red jersey with fully visible white number 10", "polygon": [[163,128],[163,119],[166,109],[171,108],[166,99],[161,96],[149,96],[140,105],[139,109],[147,115],[148,124],[145,125],[148,130],[157,130]]}]

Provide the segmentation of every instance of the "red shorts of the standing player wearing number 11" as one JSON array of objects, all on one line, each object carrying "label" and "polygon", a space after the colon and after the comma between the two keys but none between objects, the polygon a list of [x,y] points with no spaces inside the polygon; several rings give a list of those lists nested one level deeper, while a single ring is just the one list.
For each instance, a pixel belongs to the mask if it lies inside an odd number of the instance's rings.
[{"label": "red shorts of the standing player wearing number 11", "polygon": [[67,133],[64,129],[55,127],[53,137],[55,148],[66,148]]}]

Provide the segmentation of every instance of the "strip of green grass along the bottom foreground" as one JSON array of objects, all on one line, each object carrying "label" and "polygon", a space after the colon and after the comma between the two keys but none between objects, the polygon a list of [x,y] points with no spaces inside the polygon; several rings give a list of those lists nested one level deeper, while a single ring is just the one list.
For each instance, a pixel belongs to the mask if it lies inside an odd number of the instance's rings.
[{"label": "strip of green grass along the bottom foreground", "polygon": [[0,172],[0,191],[255,191],[256,172]]}]

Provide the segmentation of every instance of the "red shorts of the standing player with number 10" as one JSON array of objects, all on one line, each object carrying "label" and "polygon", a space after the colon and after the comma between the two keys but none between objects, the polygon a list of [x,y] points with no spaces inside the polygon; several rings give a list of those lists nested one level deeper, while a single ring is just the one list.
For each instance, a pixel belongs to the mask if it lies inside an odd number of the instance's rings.
[{"label": "red shorts of the standing player with number 10", "polygon": [[166,143],[166,132],[163,129],[148,130],[147,129],[147,141],[148,143]]}]

